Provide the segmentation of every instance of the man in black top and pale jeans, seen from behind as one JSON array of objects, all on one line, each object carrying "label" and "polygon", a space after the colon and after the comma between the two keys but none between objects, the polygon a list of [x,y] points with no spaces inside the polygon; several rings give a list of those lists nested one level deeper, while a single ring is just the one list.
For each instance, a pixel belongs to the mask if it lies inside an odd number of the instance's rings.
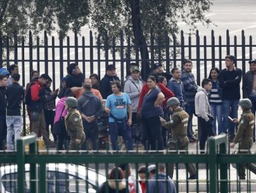
[{"label": "man in black top and pale jeans, seen from behind", "polygon": [[[7,136],[6,143],[7,149],[12,150],[12,135],[15,134],[15,147],[16,141],[21,134],[21,101],[24,99],[24,87],[19,85],[19,74],[12,74],[12,84],[8,85],[6,90],[7,98]],[[14,148],[16,150],[16,148]]]}]

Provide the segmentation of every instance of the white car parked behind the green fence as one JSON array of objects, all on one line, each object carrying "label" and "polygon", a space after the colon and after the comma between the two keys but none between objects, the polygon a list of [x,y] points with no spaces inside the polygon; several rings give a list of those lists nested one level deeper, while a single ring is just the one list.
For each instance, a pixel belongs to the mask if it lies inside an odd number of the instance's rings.
[{"label": "white car parked behind the green fence", "polygon": [[[46,165],[46,182],[48,192],[87,192],[95,193],[106,181],[106,176],[83,165],[65,163],[48,163]],[[25,165],[26,192],[30,192],[30,165]],[[17,183],[17,165],[0,167],[0,192],[19,192]],[[38,176],[38,174],[37,174]],[[87,177],[86,177],[87,176]],[[37,178],[38,179],[38,178]]]}]

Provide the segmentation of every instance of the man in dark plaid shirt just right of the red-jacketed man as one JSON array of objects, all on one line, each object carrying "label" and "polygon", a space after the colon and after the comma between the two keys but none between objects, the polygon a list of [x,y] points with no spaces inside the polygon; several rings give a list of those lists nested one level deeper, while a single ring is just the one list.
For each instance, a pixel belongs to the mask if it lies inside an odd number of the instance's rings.
[{"label": "man in dark plaid shirt just right of the red-jacketed man", "polygon": [[[51,132],[53,134],[53,121],[55,116],[55,99],[57,97],[57,93],[59,89],[55,90],[54,92],[51,90],[51,83],[53,82],[52,79],[49,79],[46,88],[44,88],[44,94],[46,99],[44,101],[44,117],[46,120],[46,131],[49,136],[49,127],[51,125]],[[54,142],[57,141],[57,136],[53,134]]]}]

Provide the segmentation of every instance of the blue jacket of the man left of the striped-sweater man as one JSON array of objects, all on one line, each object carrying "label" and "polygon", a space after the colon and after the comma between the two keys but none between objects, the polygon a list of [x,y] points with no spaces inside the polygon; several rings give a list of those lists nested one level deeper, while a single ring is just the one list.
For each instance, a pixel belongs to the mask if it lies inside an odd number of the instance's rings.
[{"label": "blue jacket of the man left of the striped-sweater man", "polygon": [[180,81],[179,83],[174,79],[170,79],[170,82],[168,83],[168,88],[172,90],[174,93],[174,96],[179,99],[181,106],[185,103],[185,90],[183,86],[183,82]]}]

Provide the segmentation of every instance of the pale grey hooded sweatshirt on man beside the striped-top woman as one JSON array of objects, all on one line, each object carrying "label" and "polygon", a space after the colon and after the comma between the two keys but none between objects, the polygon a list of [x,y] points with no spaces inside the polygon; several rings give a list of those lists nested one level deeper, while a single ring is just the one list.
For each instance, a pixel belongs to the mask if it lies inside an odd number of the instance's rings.
[{"label": "pale grey hooded sweatshirt on man beside the striped-top woman", "polygon": [[208,101],[208,92],[204,88],[197,88],[196,96],[194,98],[194,107],[197,116],[208,121],[208,115],[211,115],[210,104]]}]

